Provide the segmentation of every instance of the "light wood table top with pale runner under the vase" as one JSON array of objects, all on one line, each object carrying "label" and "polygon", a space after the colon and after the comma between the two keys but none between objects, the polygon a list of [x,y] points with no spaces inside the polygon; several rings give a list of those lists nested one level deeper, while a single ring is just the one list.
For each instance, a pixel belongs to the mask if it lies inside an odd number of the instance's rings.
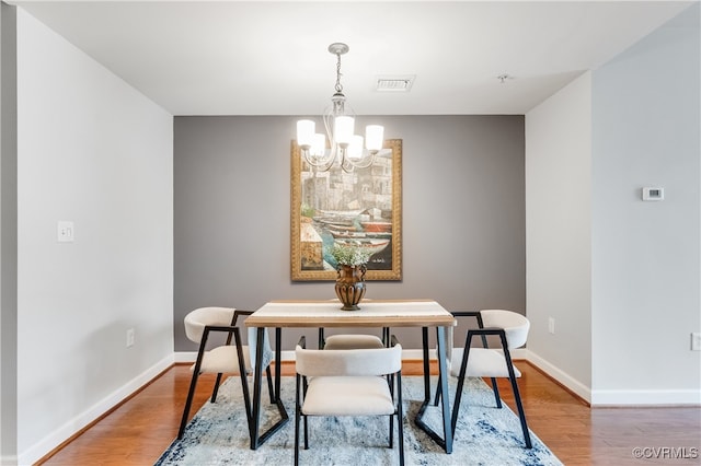
[{"label": "light wood table top with pale runner under the vase", "polygon": [[455,317],[433,300],[372,300],[359,311],[338,301],[271,301],[246,317],[246,327],[452,327]]}]

